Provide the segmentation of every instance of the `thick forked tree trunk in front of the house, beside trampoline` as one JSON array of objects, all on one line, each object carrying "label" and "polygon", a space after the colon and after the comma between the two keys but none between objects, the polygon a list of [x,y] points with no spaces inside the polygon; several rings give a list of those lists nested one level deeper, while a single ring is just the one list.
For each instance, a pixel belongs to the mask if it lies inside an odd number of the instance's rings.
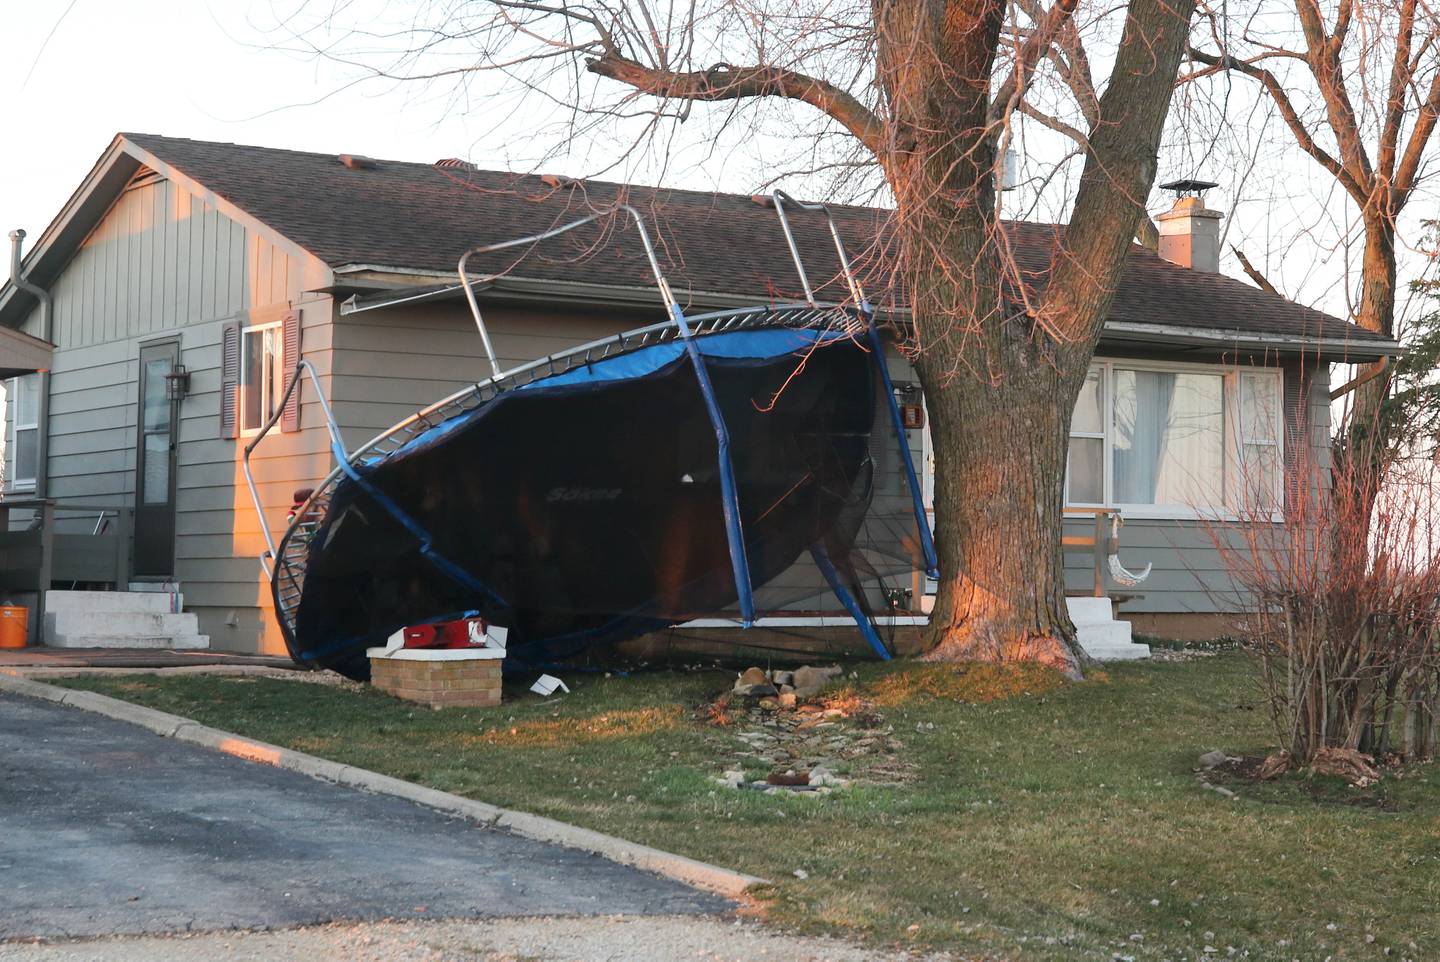
[{"label": "thick forked tree trunk in front of the house, beside trampoline", "polygon": [[930,409],[940,585],[932,660],[1086,661],[1064,602],[1070,416],[1155,156],[1194,0],[1130,0],[1080,192],[1043,294],[1007,256],[992,179],[992,3],[876,3],[877,79],[901,132],[896,196],[920,385]]}]

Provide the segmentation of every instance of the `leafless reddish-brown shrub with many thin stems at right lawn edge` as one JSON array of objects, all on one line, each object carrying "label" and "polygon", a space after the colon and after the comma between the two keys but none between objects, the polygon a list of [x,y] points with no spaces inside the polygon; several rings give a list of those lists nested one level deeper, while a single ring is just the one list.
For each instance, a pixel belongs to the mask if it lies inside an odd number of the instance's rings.
[{"label": "leafless reddish-brown shrub with many thin stems at right lawn edge", "polygon": [[1247,596],[1277,749],[1295,765],[1437,749],[1436,465],[1392,461],[1380,477],[1364,459],[1302,455],[1279,520],[1250,510],[1227,536],[1217,526]]}]

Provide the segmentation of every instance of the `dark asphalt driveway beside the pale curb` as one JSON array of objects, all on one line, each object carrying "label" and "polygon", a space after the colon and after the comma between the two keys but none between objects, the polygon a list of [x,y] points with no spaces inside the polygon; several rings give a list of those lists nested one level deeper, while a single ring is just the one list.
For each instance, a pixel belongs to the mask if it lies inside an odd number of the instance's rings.
[{"label": "dark asphalt driveway beside the pale curb", "polygon": [[0,940],[732,907],[403,799],[0,694]]}]

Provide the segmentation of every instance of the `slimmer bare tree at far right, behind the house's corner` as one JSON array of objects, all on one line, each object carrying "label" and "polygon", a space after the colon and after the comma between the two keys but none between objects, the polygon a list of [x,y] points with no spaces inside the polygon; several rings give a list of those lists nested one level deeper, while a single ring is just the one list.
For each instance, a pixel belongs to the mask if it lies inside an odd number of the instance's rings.
[{"label": "slimmer bare tree at far right, behind the house's corner", "polygon": [[[1210,40],[1191,46],[1197,69],[1181,82],[1230,71],[1269,96],[1295,144],[1339,184],[1359,215],[1364,256],[1352,320],[1394,338],[1398,220],[1424,179],[1440,118],[1440,9],[1428,0],[1259,0],[1253,9],[1204,12]],[[1341,457],[1369,472],[1338,471],[1378,491],[1382,405],[1391,370],[1380,361],[1344,390],[1354,392]],[[1339,396],[1341,392],[1336,392]],[[1367,516],[1368,517],[1368,516]]]}]

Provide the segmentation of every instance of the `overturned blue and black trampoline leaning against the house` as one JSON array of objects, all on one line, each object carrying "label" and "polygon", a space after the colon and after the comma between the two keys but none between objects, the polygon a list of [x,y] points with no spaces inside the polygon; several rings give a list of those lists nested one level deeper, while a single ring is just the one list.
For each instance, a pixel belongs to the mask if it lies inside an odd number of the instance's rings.
[{"label": "overturned blue and black trampoline leaning against the house", "polygon": [[[494,374],[346,451],[262,563],[291,657],[354,678],[409,625],[481,616],[507,667],[602,664],[625,639],[757,618],[832,593],[877,657],[897,588],[935,549],[874,313],[834,220],[848,300],[687,317],[639,213],[616,207],[459,262]],[[639,235],[670,320],[503,372],[467,259],[609,213]],[[245,474],[264,517],[251,452]],[[262,530],[265,526],[262,526]]]}]

